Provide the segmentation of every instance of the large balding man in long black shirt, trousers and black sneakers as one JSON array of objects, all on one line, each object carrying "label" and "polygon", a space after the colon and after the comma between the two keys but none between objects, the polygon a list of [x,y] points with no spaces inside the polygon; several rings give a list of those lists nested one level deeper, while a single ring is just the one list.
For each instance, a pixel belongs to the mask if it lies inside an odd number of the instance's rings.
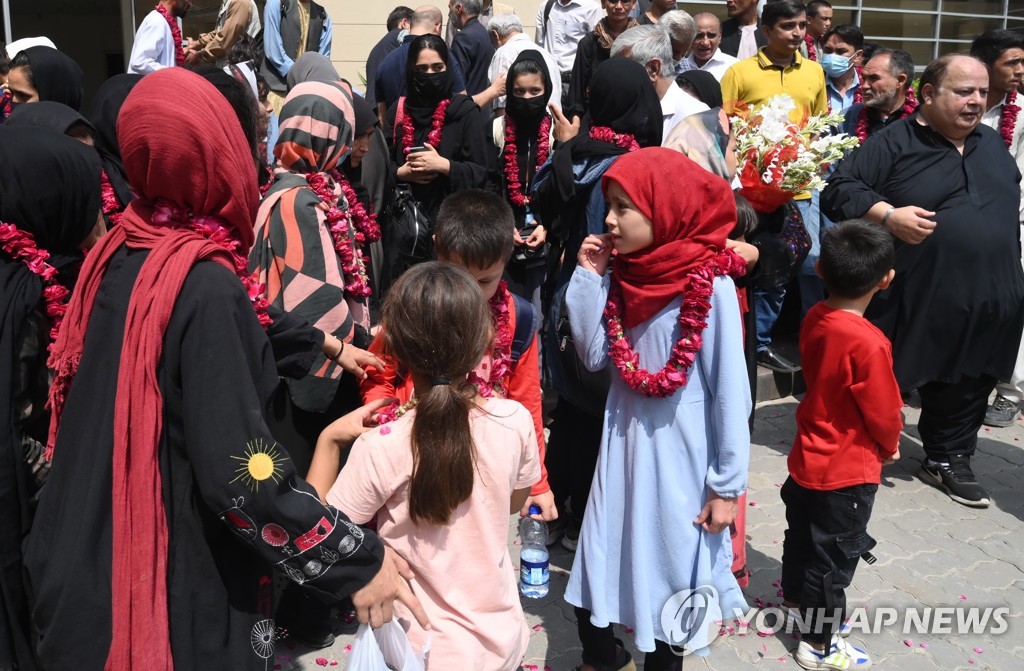
[{"label": "large balding man in long black shirt, trousers and black sneakers", "polygon": [[843,162],[821,205],[836,221],[863,217],[897,238],[896,280],[867,317],[893,343],[900,388],[921,394],[923,479],[985,507],[971,457],[1024,327],[1021,174],[999,134],[980,125],[984,64],[942,56],[921,92],[915,114]]}]

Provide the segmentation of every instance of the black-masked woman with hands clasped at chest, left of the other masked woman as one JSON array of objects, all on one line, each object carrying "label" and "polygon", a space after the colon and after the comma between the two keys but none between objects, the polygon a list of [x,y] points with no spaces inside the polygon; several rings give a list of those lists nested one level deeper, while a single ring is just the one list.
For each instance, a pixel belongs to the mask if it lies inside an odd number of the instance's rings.
[{"label": "black-masked woman with hands clasped at chest, left of the other masked woman", "polygon": [[409,49],[406,96],[388,111],[395,179],[412,186],[431,222],[445,196],[479,188],[487,177],[480,109],[469,96],[453,94],[450,65],[444,40],[416,38]]}]

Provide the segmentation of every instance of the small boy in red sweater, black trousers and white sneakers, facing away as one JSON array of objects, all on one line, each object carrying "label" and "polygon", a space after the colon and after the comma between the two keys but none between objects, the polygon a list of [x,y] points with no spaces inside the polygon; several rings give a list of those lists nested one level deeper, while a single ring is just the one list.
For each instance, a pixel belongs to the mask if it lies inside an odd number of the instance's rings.
[{"label": "small boy in red sweater, black trousers and white sneakers, facing away", "polygon": [[903,402],[892,346],[864,319],[871,297],[895,277],[892,236],[862,219],[821,239],[816,267],[828,298],[800,330],[807,395],[782,486],[788,529],[782,545],[783,604],[800,609],[805,669],[868,669],[846,641],[845,588],[857,560],[874,547],[867,521],[883,464],[899,459]]}]

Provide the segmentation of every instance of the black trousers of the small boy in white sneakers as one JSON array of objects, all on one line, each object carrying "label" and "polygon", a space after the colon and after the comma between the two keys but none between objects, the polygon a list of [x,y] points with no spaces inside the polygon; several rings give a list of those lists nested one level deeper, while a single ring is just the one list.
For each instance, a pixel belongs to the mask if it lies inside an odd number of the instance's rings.
[{"label": "black trousers of the small boy in white sneakers", "polygon": [[800,603],[803,633],[810,643],[831,640],[846,618],[846,588],[860,555],[874,547],[867,521],[878,485],[841,490],[809,490],[793,477],[782,485],[785,540],[782,541],[782,594]]}]

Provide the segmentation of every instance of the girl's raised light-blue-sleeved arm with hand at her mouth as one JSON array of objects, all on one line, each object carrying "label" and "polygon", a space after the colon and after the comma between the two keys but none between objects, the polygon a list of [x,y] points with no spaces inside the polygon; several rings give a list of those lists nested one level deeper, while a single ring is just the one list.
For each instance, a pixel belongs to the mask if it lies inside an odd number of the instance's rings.
[{"label": "girl's raised light-blue-sleeved arm with hand at her mouth", "polygon": [[610,278],[605,275],[610,257],[609,236],[588,236],[577,256],[580,265],[565,292],[577,353],[590,371],[599,371],[608,365],[604,306],[611,286]]}]

